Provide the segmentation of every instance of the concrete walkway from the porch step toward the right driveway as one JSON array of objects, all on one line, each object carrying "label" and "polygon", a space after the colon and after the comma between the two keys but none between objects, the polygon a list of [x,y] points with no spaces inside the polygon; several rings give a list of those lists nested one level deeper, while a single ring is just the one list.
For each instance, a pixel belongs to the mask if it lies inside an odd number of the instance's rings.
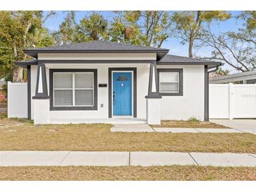
[{"label": "concrete walkway from the porch step toward the right driveway", "polygon": [[228,133],[239,132],[234,129],[217,129],[217,128],[151,128],[147,124],[114,124],[111,132],[213,132],[213,133]]}]

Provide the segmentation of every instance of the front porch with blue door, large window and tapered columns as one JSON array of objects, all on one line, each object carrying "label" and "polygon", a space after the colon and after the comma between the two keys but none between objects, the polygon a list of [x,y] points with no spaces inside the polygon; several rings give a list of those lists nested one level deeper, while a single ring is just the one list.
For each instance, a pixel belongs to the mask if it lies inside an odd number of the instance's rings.
[{"label": "front porch with blue door, large window and tapered columns", "polygon": [[[32,97],[34,124],[160,124],[161,103],[158,99],[161,99],[161,96],[157,83],[156,62],[130,64],[130,67],[127,67],[127,64],[125,62],[116,67],[114,64],[84,66],[84,63],[81,63],[76,64],[73,69],[67,69],[73,67],[72,64],[67,64],[66,69],[60,69],[56,64],[39,62],[38,66],[32,69],[34,76],[36,75],[36,87],[32,90],[32,95],[35,92]],[[89,81],[86,77],[79,81],[76,78],[79,74],[91,77],[92,80]],[[72,79],[69,83],[72,85],[70,90],[62,88],[62,82],[67,81],[66,76],[72,76],[68,78]],[[53,81],[60,82],[60,85],[54,84]],[[90,84],[90,90],[83,87],[83,92],[90,91],[93,96],[84,95],[86,97],[81,101],[83,103],[77,105],[76,102],[79,102],[83,95],[76,92],[76,83],[83,84],[85,81]],[[65,91],[65,94],[57,97],[57,91]],[[69,92],[73,92],[73,95]]]}]

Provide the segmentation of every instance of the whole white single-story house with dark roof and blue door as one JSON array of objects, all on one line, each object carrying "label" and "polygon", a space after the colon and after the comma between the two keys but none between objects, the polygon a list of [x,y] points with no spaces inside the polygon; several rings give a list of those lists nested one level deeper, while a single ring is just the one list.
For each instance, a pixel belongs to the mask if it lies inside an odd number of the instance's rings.
[{"label": "whole white single-story house with dark roof and blue door", "polygon": [[168,49],[90,41],[29,48],[27,116],[41,123],[208,121],[208,73],[220,66]]}]

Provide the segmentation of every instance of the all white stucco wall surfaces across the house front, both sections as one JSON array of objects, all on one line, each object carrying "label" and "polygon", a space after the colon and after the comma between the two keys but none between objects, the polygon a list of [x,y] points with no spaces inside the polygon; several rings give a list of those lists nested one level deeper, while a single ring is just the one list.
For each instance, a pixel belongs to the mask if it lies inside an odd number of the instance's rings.
[{"label": "all white stucco wall surfaces across the house front, both sections", "polygon": [[[112,54],[40,54],[39,60],[155,60],[156,55],[130,53],[119,55]],[[148,91],[149,82],[149,64],[145,63],[126,63],[126,64],[46,64],[46,76],[49,90],[49,68],[52,69],[97,69],[97,83],[108,83],[109,67],[137,67],[137,118],[146,118],[147,100],[145,95]],[[163,96],[161,99],[161,119],[170,120],[187,120],[196,117],[203,120],[204,116],[204,67],[177,65],[162,65],[157,68],[182,68],[183,69],[183,96]],[[37,67],[31,69],[31,91],[34,96],[36,89],[36,72]],[[49,111],[50,119],[60,118],[108,118],[108,88],[97,88],[97,111]],[[100,105],[103,104],[103,107]],[[32,102],[32,119],[33,114]]]}]

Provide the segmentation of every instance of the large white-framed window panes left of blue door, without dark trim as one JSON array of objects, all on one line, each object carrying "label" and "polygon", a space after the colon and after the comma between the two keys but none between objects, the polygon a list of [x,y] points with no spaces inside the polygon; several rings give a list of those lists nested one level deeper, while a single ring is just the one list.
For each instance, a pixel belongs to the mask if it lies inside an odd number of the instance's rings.
[{"label": "large white-framed window panes left of blue door, without dark trim", "polygon": [[53,107],[93,107],[93,72],[54,72]]}]

